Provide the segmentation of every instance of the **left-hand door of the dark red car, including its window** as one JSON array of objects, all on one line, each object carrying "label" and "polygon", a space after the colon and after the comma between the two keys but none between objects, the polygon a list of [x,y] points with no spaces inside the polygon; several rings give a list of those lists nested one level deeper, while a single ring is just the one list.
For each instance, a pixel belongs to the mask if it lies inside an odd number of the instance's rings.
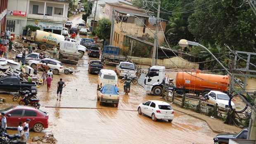
[{"label": "left-hand door of the dark red car, including its window", "polygon": [[[7,127],[18,127],[19,122],[22,121],[21,117],[23,114],[24,110],[23,109],[15,109],[13,111],[10,111],[8,114],[11,114],[11,116],[6,116],[6,121],[7,121]],[[22,121],[24,122],[24,121]]]}]

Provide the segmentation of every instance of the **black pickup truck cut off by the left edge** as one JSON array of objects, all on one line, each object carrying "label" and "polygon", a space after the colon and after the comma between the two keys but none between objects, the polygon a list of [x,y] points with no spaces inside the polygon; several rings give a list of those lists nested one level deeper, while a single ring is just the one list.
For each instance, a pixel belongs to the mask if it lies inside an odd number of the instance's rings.
[{"label": "black pickup truck cut off by the left edge", "polygon": [[28,90],[32,94],[37,94],[35,82],[24,82],[19,76],[4,76],[0,78],[0,91],[19,92]]}]

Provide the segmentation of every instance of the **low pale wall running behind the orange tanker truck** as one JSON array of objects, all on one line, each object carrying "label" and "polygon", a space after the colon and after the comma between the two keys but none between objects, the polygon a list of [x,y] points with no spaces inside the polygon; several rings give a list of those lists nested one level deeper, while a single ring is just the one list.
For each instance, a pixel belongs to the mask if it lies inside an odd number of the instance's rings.
[{"label": "low pale wall running behind the orange tanker truck", "polygon": [[[132,57],[131,60],[137,64],[145,64],[145,65],[151,65],[151,62],[152,62],[151,58],[138,59],[138,57]],[[158,59],[157,65],[158,66],[166,66],[166,67],[177,67],[176,65],[178,65],[179,68],[191,68],[191,69],[199,68],[199,64],[185,61],[181,57],[172,57],[171,61],[170,61],[170,59]]]}]

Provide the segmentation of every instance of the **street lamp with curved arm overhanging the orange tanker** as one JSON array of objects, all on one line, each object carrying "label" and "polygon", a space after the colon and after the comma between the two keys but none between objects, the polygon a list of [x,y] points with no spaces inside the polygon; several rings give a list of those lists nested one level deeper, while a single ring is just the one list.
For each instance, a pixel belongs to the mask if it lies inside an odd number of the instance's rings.
[{"label": "street lamp with curved arm overhanging the orange tanker", "polygon": [[223,64],[222,64],[222,63],[211,53],[211,51],[208,50],[205,46],[200,45],[198,42],[192,42],[192,41],[188,41],[188,40],[184,40],[184,39],[182,39],[182,40],[179,41],[179,45],[180,45],[180,47],[187,47],[187,46],[189,46],[189,45],[194,45],[194,46],[203,47],[205,50],[207,50],[207,52],[209,52],[209,53],[213,56],[214,59],[216,59],[216,61],[218,61],[218,63],[219,63],[219,64],[225,69],[225,71],[231,76],[231,73],[228,71],[228,69],[227,69],[225,66],[223,66]]}]

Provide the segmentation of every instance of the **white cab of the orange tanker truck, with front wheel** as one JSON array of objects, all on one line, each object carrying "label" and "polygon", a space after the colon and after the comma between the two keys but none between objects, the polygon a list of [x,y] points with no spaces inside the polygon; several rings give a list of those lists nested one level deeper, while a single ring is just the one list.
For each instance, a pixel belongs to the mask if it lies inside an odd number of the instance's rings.
[{"label": "white cab of the orange tanker truck, with front wheel", "polygon": [[165,66],[150,66],[144,79],[144,89],[156,96],[163,93],[163,80],[165,78]]}]

